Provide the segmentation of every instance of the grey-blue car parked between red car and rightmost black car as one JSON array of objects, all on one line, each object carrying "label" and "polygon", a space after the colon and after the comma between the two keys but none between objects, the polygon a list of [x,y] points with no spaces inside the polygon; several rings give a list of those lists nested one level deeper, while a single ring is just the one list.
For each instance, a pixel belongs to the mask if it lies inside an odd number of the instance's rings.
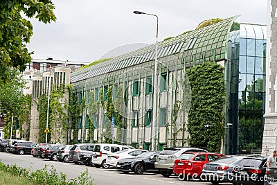
[{"label": "grey-blue car parked between red car and rightmost black car", "polygon": [[[244,170],[244,168],[249,167],[249,165],[246,166],[245,164],[249,164],[249,162],[254,164],[258,161],[260,162],[261,159],[264,159],[264,157],[255,157],[255,156],[249,157],[249,156],[243,156],[243,155],[222,157],[217,161],[205,164],[203,166],[200,179],[202,179],[203,181],[212,182],[213,184],[218,184],[220,182],[234,182],[235,177],[242,175],[240,171]],[[249,173],[251,172],[254,172],[254,171],[251,170]],[[262,173],[260,173],[260,175],[261,174]],[[256,175],[259,175],[259,174],[257,173]]]}]

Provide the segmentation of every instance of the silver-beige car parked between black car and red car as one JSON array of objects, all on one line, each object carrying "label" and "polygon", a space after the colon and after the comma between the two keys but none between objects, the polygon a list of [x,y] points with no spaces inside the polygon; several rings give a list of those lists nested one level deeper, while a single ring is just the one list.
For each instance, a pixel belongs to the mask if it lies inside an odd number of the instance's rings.
[{"label": "silver-beige car parked between black car and red car", "polygon": [[185,152],[207,152],[201,148],[165,148],[159,153],[155,162],[155,168],[161,171],[163,177],[169,177],[173,173],[174,161]]}]

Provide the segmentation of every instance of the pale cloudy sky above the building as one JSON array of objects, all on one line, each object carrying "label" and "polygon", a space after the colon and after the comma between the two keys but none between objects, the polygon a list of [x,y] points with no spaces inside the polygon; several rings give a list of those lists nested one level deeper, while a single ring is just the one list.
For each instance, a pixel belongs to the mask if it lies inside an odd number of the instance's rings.
[{"label": "pale cloudy sky above the building", "polygon": [[31,19],[27,44],[33,59],[93,62],[194,30],[206,19],[240,15],[241,23],[267,24],[266,0],[52,0],[57,20]]}]

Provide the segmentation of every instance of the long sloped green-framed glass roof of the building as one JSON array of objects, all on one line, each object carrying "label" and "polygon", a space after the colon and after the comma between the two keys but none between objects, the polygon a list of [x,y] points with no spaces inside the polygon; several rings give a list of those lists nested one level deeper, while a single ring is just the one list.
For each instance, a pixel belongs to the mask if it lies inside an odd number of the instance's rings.
[{"label": "long sloped green-framed glass roof of the building", "polygon": [[[211,26],[206,26],[189,33],[159,42],[158,58],[181,53],[185,62],[226,59],[226,42],[229,30],[237,17],[224,19]],[[71,82],[78,82],[111,71],[116,71],[136,64],[154,60],[155,44],[120,55],[100,64],[71,73]]]}]

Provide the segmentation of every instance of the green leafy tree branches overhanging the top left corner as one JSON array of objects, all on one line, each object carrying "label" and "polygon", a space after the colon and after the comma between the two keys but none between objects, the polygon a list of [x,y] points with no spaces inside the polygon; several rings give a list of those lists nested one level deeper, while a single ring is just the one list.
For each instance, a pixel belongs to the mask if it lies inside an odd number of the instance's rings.
[{"label": "green leafy tree branches overhanging the top left corner", "polygon": [[24,17],[35,17],[44,24],[55,21],[51,0],[0,1],[0,79],[8,80],[9,68],[24,71],[31,62],[26,44],[33,35],[33,25]]}]

